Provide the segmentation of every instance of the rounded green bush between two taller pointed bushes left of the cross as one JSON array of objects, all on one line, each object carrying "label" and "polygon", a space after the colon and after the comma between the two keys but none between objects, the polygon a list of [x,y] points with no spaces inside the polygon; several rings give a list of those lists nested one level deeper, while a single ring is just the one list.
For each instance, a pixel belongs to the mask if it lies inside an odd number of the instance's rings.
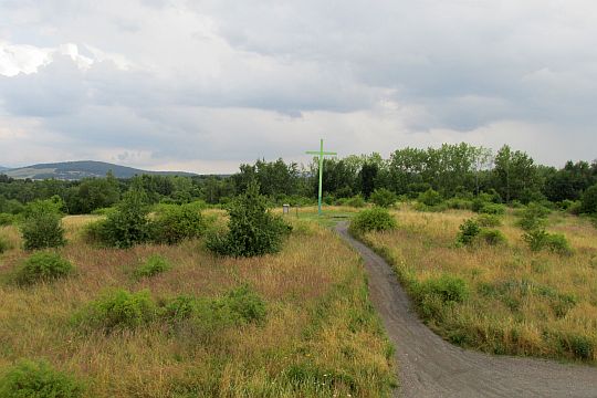
[{"label": "rounded green bush between two taller pointed bushes left of the cross", "polygon": [[206,230],[206,222],[195,207],[169,205],[160,208],[150,228],[155,242],[175,244],[200,237]]}]

